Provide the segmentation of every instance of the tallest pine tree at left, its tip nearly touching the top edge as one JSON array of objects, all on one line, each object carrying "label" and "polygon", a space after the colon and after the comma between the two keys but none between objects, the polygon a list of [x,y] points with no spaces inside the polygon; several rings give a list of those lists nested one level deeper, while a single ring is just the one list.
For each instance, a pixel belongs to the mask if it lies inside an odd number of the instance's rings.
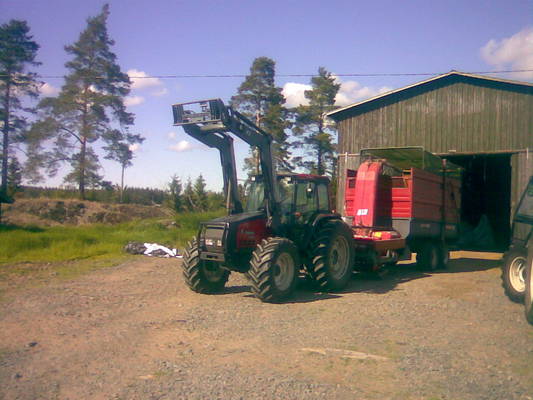
[{"label": "tallest pine tree at left, its tip nearly touching the top edge", "polygon": [[[72,56],[65,64],[65,84],[57,98],[41,101],[42,118],[32,128],[33,167],[44,166],[54,175],[62,162],[70,163],[72,171],[66,179],[77,183],[81,198],[99,176],[98,156],[91,145],[101,139],[109,143],[110,131],[119,126],[127,132],[134,119],[124,105],[130,80],[111,51],[114,41],[107,31],[108,16],[106,4],[100,14],[88,18],[78,41],[65,47]],[[43,152],[46,140],[53,141],[53,149]]]}]

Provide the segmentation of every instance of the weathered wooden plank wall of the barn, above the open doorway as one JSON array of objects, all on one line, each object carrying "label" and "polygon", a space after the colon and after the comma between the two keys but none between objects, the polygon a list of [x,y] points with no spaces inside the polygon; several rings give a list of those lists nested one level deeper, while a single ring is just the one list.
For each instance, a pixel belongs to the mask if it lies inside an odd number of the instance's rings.
[{"label": "weathered wooden plank wall of the barn, above the open doorway", "polygon": [[451,75],[347,108],[335,119],[341,175],[345,154],[353,164],[350,154],[363,148],[400,146],[433,153],[517,151],[513,200],[532,172],[533,86]]}]

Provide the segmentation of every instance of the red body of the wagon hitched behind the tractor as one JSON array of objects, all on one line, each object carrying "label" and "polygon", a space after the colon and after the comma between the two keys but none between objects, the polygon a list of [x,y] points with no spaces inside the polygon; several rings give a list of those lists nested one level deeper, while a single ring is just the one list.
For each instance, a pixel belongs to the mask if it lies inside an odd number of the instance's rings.
[{"label": "red body of the wagon hitched behind the tractor", "polygon": [[345,219],[363,269],[409,259],[428,243],[446,248],[458,238],[460,180],[445,168],[436,173],[370,159],[346,176]]}]

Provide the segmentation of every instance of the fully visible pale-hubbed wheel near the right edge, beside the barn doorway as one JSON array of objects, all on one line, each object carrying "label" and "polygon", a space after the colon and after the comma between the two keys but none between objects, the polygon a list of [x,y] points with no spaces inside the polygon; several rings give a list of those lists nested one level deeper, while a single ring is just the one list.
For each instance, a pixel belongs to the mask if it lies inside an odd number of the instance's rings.
[{"label": "fully visible pale-hubbed wheel near the right edge, beside the barn doorway", "polygon": [[526,292],[526,249],[515,247],[505,253],[502,264],[502,286],[509,299],[516,303],[524,301]]}]

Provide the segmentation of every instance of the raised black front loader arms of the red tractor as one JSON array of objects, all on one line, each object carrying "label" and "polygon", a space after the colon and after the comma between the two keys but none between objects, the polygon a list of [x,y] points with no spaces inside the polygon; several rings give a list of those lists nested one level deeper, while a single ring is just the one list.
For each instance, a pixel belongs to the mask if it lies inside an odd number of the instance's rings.
[{"label": "raised black front loader arms of the red tractor", "polygon": [[[224,172],[224,194],[233,205],[228,208],[230,213],[242,212],[242,204],[238,196],[233,139],[228,133],[257,147],[265,182],[266,213],[271,229],[277,232],[281,215],[272,157],[272,136],[238,111],[226,107],[220,99],[177,103],[172,105],[172,110],[175,126],[182,126],[188,135],[219,150]],[[239,209],[241,211],[237,211]]]}]

